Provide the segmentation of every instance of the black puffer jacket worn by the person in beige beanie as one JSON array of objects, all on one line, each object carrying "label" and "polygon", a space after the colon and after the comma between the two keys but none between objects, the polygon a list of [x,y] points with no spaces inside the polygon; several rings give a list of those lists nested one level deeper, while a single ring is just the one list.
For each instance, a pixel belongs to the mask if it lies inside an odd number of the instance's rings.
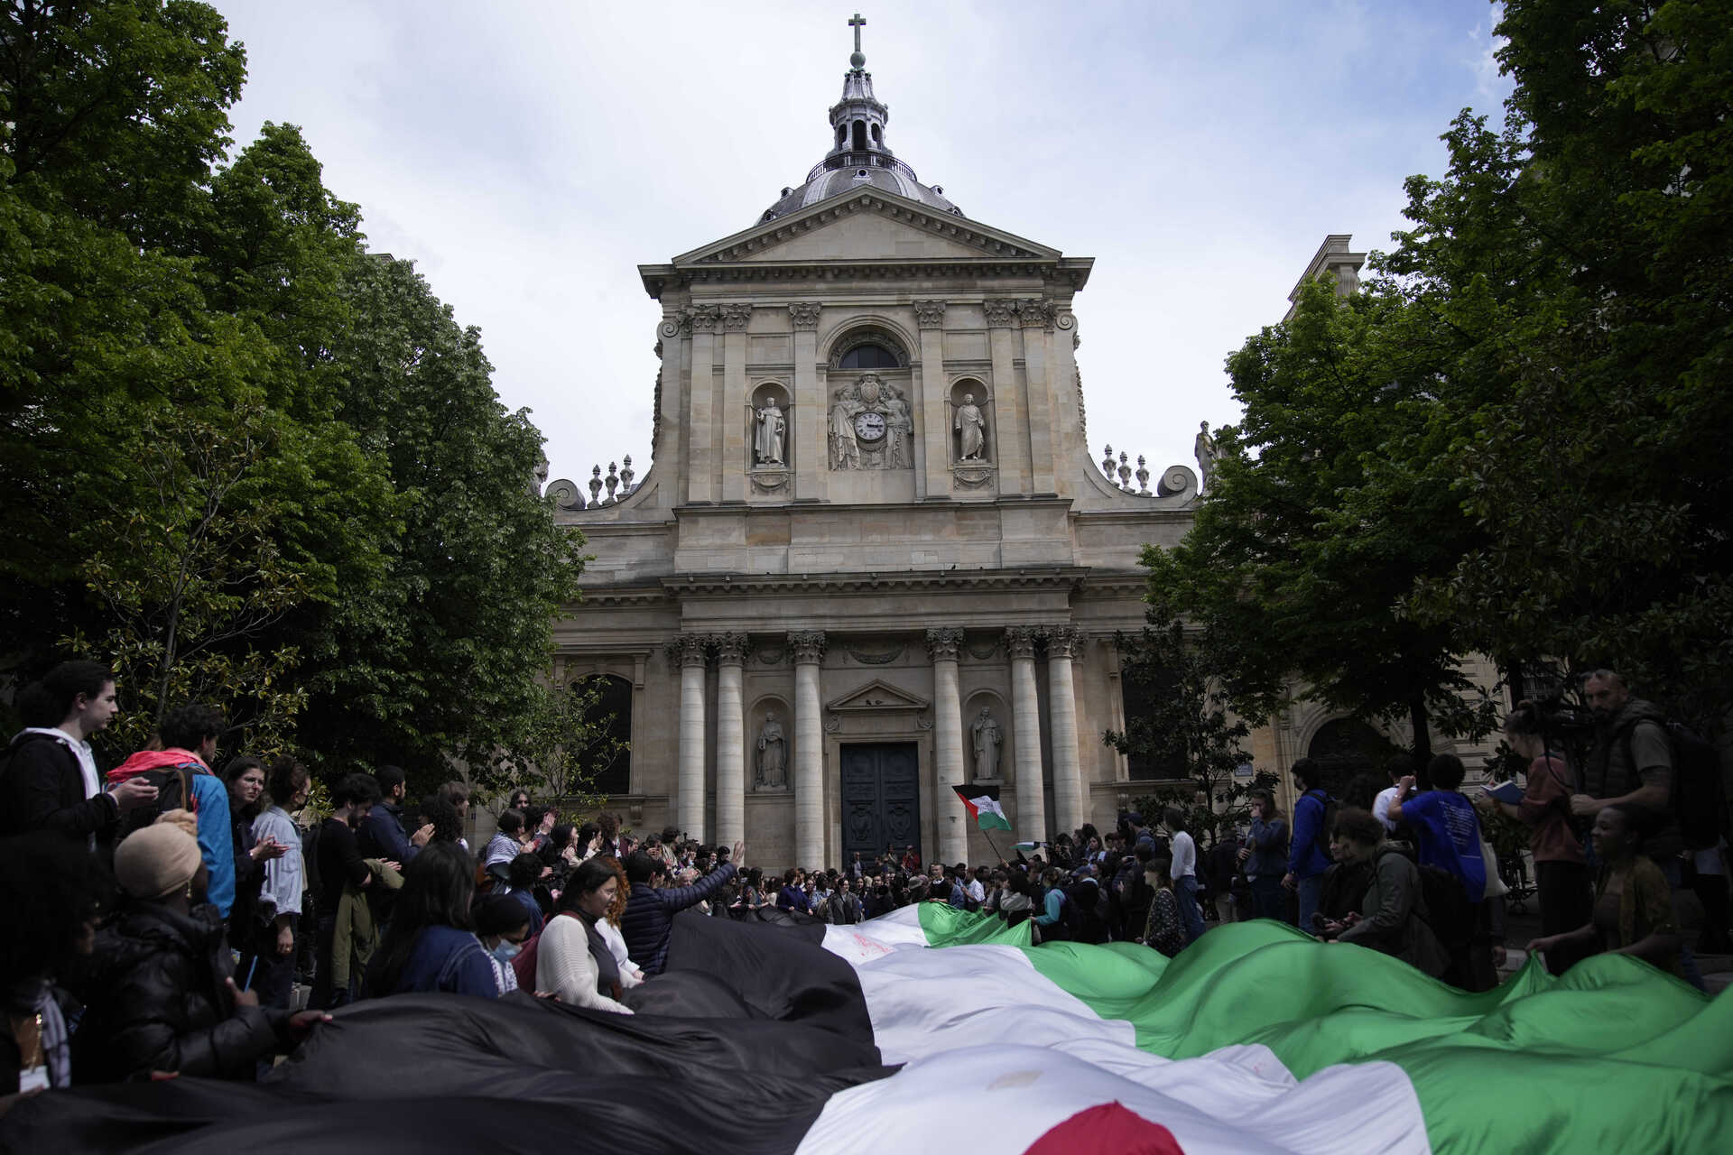
[{"label": "black puffer jacket worn by the person in beige beanie", "polygon": [[234,973],[217,907],[178,914],[137,902],[97,932],[85,1018],[73,1036],[73,1082],[149,1079],[153,1070],[251,1079],[286,1011],[234,1006]]}]

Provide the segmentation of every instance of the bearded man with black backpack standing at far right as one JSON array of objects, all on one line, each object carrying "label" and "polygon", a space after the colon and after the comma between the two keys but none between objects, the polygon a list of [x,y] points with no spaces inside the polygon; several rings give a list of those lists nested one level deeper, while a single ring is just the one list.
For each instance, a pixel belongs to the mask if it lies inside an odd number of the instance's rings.
[{"label": "bearded man with black backpack standing at far right", "polygon": [[[1641,816],[1653,829],[1643,840],[1643,854],[1665,874],[1678,919],[1684,835],[1679,829],[1678,791],[1683,783],[1676,781],[1676,772],[1681,771],[1674,748],[1676,731],[1667,726],[1667,715],[1658,707],[1632,698],[1624,679],[1612,670],[1589,674],[1582,682],[1582,696],[1594,712],[1594,746],[1582,767],[1582,793],[1572,795],[1570,812],[1594,821],[1605,807],[1617,805],[1627,814]],[[1690,741],[1697,741],[1695,736]],[[1704,809],[1691,807],[1693,819],[1702,817],[1695,812]],[[1719,817],[1717,814],[1716,819]],[[1593,861],[1589,868],[1594,869]],[[1705,989],[1697,958],[1684,939],[1679,940],[1679,973],[1698,990]]]}]

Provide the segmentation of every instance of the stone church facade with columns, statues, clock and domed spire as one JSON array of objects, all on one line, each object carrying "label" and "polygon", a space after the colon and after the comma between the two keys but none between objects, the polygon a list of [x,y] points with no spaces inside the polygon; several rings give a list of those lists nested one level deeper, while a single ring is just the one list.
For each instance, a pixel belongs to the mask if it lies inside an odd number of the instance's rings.
[{"label": "stone church facade with columns, statues, clock and domed spire", "polygon": [[[991,861],[953,784],[1000,786],[1002,843],[1147,791],[1102,743],[1125,724],[1114,636],[1142,627],[1139,551],[1185,533],[1199,480],[1094,462],[1094,260],[920,184],[851,64],[806,184],[639,267],[655,461],[636,485],[610,468],[607,497],[600,469],[589,499],[548,490],[594,554],[553,674],[619,687],[615,803],[639,829],[745,838],[775,868],[910,843]],[[1260,765],[1295,757],[1281,729]]]}]

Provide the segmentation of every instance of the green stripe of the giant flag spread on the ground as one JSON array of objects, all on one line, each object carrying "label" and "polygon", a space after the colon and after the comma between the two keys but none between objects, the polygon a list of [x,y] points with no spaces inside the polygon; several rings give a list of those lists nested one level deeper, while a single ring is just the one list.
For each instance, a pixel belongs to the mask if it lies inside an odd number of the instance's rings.
[{"label": "green stripe of the giant flag spread on the ground", "polygon": [[[929,944],[979,933],[964,919],[981,916],[950,914],[922,918]],[[1440,1153],[1709,1152],[1733,1134],[1733,996],[1710,1001],[1626,956],[1560,978],[1529,959],[1483,994],[1270,921],[1218,926],[1172,961],[1135,944],[1069,942],[1028,958],[1165,1058],[1260,1042],[1298,1079],[1395,1063]]]}]

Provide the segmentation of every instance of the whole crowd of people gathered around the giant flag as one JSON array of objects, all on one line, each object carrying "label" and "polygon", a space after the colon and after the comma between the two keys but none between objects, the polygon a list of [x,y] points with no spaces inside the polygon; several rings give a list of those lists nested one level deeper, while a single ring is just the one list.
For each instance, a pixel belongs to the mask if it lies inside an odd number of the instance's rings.
[{"label": "whole crowd of people gathered around the giant flag", "polygon": [[[165,712],[149,750],[99,774],[90,738],[114,717],[114,679],[64,663],[21,696],[28,724],[0,767],[0,1094],[255,1077],[331,1010],[402,992],[523,989],[629,1015],[681,978],[664,975],[681,911],[853,925],[941,902],[1028,921],[1036,942],[1166,956],[1210,921],[1272,918],[1483,990],[1504,961],[1504,881],[1477,805],[1532,829],[1544,933],[1529,949],[1555,973],[1619,951],[1702,985],[1672,902],[1683,843],[1664,734],[1641,731],[1650,713],[1615,675],[1587,689],[1603,724],[1587,767],[1551,750],[1534,707],[1506,720],[1530,760],[1520,802],[1471,802],[1463,762],[1438,755],[1399,758],[1386,788],[1353,784],[1345,803],[1301,758],[1293,819],[1255,790],[1246,821],[1206,849],[1178,809],[1126,810],[991,864],[922,862],[906,845],[776,874],[738,842],[639,838],[613,814],[563,823],[527,793],[477,850],[470,790],[411,803],[393,765],[336,781],[312,823],[293,758],[215,769],[224,717],[201,705]],[[1620,738],[1627,712],[1636,741]]]}]

